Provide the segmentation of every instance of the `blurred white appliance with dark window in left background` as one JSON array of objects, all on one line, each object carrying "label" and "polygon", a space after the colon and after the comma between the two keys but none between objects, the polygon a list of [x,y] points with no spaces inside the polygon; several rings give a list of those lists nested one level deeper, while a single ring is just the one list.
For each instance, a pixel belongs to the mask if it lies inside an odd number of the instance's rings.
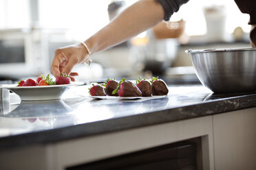
[{"label": "blurred white appliance with dark window in left background", "polygon": [[42,69],[38,35],[31,29],[0,32],[0,76],[37,74]]}]

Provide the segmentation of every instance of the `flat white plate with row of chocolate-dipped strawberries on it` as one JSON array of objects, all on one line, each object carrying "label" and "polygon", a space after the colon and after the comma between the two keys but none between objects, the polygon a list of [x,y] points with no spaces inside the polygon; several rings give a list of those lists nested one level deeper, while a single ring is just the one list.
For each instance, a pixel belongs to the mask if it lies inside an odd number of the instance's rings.
[{"label": "flat white plate with row of chocolate-dipped strawberries on it", "polygon": [[166,97],[167,84],[158,77],[146,80],[138,77],[136,81],[123,78],[119,82],[107,79],[104,84],[92,84],[89,95],[94,99],[154,99]]}]

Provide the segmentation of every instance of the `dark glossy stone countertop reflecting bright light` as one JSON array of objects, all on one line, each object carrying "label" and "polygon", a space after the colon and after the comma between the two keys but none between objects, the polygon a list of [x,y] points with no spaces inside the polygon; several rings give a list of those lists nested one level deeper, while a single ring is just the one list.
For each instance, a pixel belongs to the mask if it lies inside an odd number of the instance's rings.
[{"label": "dark glossy stone countertop reflecting bright light", "polygon": [[215,95],[202,85],[169,86],[167,97],[136,100],[92,99],[87,88],[74,87],[52,101],[20,101],[12,93],[0,107],[0,150],[256,106],[255,93]]}]

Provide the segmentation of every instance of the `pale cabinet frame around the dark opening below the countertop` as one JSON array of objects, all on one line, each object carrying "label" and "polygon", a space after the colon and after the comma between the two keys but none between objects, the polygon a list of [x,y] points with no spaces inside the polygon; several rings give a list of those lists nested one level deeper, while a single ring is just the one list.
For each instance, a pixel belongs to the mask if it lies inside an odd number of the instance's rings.
[{"label": "pale cabinet frame around the dark opening below the countertop", "polygon": [[[214,169],[212,119],[200,117],[132,130],[37,145],[0,154],[5,169],[63,170],[86,162],[202,137],[202,161],[198,169]],[[38,157],[39,156],[39,157]],[[15,160],[15,164],[8,160]]]}]

